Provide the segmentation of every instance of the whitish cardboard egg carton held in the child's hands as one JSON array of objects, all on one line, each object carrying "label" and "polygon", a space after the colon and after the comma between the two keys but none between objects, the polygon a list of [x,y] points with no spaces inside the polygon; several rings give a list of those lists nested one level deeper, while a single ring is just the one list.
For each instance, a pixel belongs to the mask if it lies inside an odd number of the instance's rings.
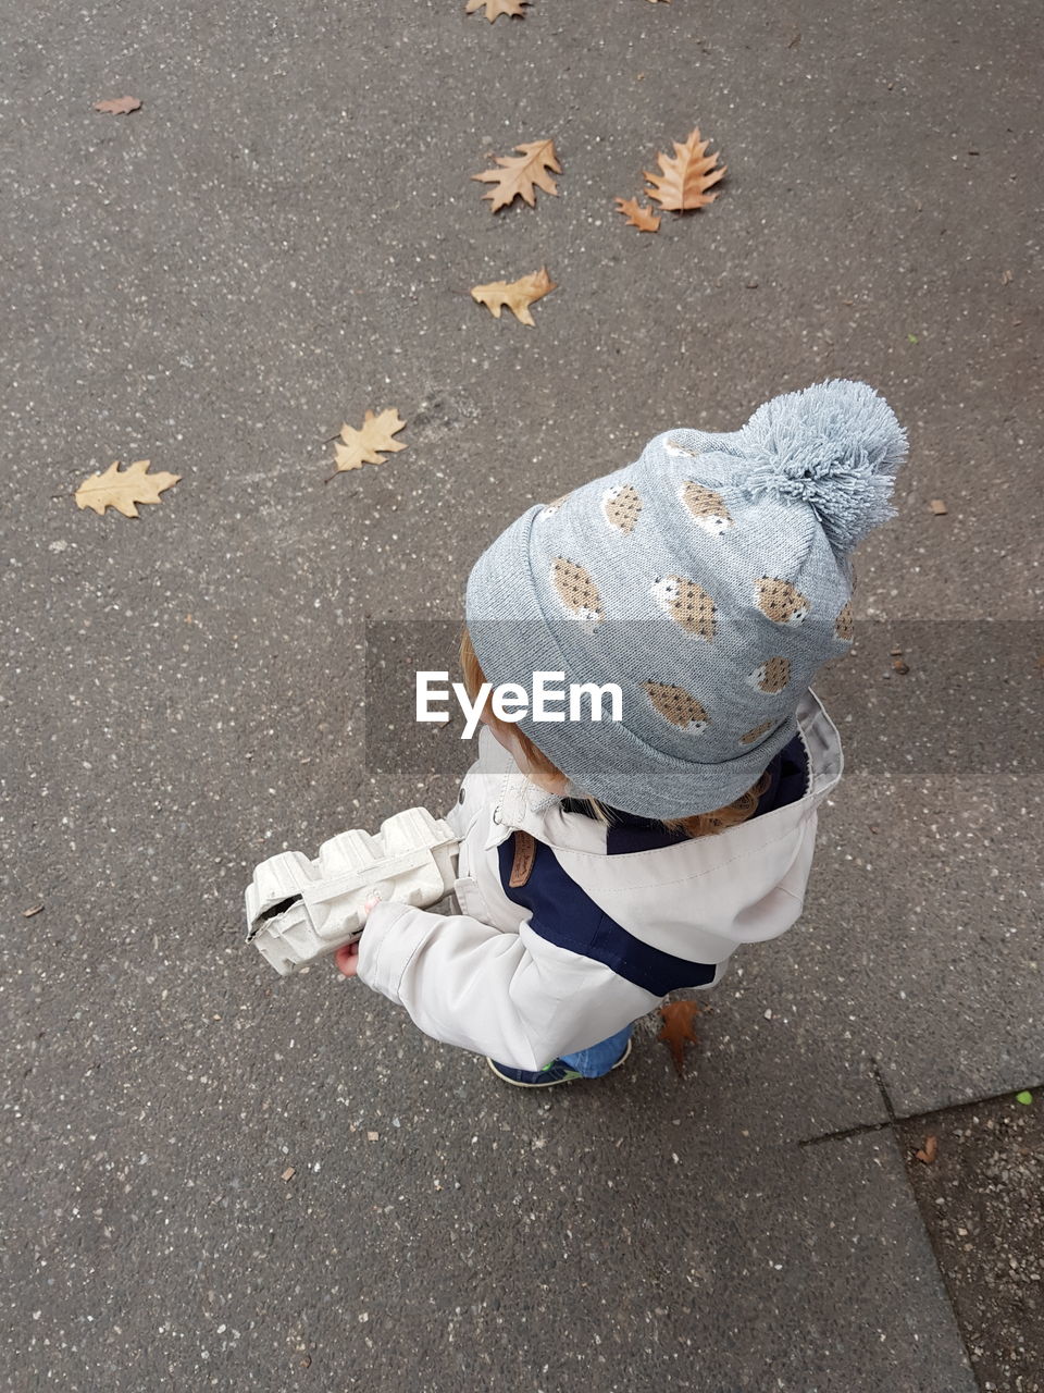
[{"label": "whitish cardboard egg carton held in the child's hands", "polygon": [[315,861],[281,851],[262,861],[246,886],[246,942],[280,976],[326,957],[362,933],[366,900],[380,896],[423,910],[457,879],[458,840],[426,808],[387,818],[380,832],[340,832]]}]

